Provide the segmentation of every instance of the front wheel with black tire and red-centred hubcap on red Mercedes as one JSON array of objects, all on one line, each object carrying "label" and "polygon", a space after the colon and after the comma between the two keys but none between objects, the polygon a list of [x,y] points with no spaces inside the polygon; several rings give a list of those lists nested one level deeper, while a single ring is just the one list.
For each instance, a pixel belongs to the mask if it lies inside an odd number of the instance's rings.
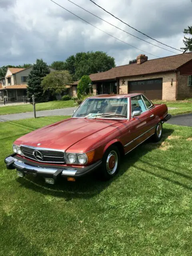
[{"label": "front wheel with black tire and red-centred hubcap on red Mercedes", "polygon": [[120,152],[114,145],[110,146],[102,158],[101,176],[104,180],[110,180],[118,173],[120,166]]}]

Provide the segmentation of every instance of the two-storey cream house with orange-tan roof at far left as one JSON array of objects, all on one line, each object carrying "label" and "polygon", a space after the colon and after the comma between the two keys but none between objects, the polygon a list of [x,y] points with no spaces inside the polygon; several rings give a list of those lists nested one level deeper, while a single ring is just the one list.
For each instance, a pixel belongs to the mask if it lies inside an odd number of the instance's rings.
[{"label": "two-storey cream house with orange-tan roof at far left", "polygon": [[[50,72],[55,71],[50,68]],[[1,81],[0,97],[7,97],[8,100],[26,100],[27,79],[32,67],[29,68],[8,68],[5,78]]]}]

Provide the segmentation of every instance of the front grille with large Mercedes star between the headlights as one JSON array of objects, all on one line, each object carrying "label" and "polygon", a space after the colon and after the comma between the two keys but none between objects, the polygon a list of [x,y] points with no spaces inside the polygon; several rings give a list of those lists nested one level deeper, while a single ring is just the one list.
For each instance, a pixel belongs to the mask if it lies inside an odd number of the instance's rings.
[{"label": "front grille with large Mercedes star between the headlights", "polygon": [[38,162],[65,163],[65,152],[49,148],[20,145],[23,155]]}]

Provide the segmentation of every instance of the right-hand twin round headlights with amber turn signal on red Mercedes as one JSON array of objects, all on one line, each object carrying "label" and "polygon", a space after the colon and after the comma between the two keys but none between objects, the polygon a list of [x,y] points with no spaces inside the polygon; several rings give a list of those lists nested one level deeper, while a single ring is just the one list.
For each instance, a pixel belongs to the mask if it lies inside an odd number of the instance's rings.
[{"label": "right-hand twin round headlights with amber turn signal on red Mercedes", "polygon": [[87,153],[67,153],[66,164],[90,164],[94,158],[95,150]]}]

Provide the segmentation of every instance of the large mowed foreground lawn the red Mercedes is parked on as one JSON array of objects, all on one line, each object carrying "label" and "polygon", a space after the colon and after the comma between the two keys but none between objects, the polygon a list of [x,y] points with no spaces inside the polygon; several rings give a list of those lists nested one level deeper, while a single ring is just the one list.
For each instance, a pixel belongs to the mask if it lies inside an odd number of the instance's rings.
[{"label": "large mowed foreground lawn the red Mercedes is parked on", "polygon": [[51,186],[6,170],[16,138],[62,119],[0,123],[0,255],[190,256],[192,128],[164,124],[162,141],[126,155],[108,182]]}]

